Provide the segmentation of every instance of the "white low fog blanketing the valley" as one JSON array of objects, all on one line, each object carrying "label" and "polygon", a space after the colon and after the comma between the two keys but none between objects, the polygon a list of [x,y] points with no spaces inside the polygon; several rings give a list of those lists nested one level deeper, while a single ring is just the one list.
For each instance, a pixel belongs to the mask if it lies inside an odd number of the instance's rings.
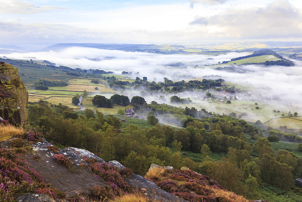
[{"label": "white low fog blanketing the valley", "polygon": [[[217,78],[224,78],[226,81],[239,84],[249,84],[254,88],[251,91],[257,91],[257,95],[266,97],[275,101],[283,101],[288,105],[299,106],[302,99],[302,74],[301,61],[295,61],[295,67],[284,66],[234,66],[240,68],[239,72],[227,72],[223,70],[211,69],[211,66],[205,64],[217,64],[230,60],[234,57],[249,55],[250,52],[233,52],[218,56],[201,54],[152,54],[143,52],[125,52],[119,50],[102,50],[95,48],[71,47],[58,52],[32,52],[32,53],[13,53],[6,57],[27,59],[35,57],[34,60],[48,60],[56,63],[57,66],[63,65],[72,68],[82,69],[100,69],[105,71],[114,71],[120,74],[122,71],[132,71],[130,76],[135,79],[134,73],[140,72],[139,77],[147,77],[152,81],[155,77],[158,81],[163,81],[164,77],[170,80],[201,80],[202,77],[211,78],[211,75],[218,75]],[[209,59],[212,58],[212,59]],[[187,64],[186,68],[167,66],[168,64],[181,62]],[[197,68],[194,66],[198,65]],[[130,93],[129,94],[135,94]],[[130,95],[129,95],[130,96]],[[193,97],[188,93],[182,97]],[[152,98],[151,98],[152,99]],[[149,101],[147,99],[147,101]],[[169,103],[169,100],[165,103]]]}]

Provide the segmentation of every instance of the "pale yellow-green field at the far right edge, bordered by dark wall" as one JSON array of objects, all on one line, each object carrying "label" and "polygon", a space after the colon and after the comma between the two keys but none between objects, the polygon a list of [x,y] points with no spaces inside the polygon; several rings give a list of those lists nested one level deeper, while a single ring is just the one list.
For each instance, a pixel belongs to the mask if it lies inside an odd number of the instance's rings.
[{"label": "pale yellow-green field at the far right edge, bordered by dark wall", "polygon": [[289,129],[302,129],[301,117],[281,117],[278,119],[271,119],[265,124],[275,128],[286,125]]}]

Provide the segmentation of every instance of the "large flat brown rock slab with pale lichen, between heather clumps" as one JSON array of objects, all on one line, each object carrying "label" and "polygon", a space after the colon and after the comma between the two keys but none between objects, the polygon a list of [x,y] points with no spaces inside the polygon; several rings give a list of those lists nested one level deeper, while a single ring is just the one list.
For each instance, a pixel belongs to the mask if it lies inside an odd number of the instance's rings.
[{"label": "large flat brown rock slab with pale lichen, between heather clumps", "polygon": [[[75,164],[69,172],[63,164],[58,163],[53,159],[55,155],[52,151],[49,151],[45,146],[51,145],[50,143],[36,142],[33,146],[33,155],[26,154],[25,160],[36,169],[45,178],[46,183],[50,183],[53,187],[56,187],[60,191],[66,193],[66,197],[72,197],[81,194],[87,196],[91,194],[90,190],[94,185],[101,187],[108,187],[109,185],[101,179],[99,181],[95,175],[87,167],[80,166],[81,163],[87,165],[86,161],[82,159],[75,151],[62,150],[62,153],[69,157]],[[34,161],[35,159],[38,159]],[[82,164],[83,165],[83,164]]]}]

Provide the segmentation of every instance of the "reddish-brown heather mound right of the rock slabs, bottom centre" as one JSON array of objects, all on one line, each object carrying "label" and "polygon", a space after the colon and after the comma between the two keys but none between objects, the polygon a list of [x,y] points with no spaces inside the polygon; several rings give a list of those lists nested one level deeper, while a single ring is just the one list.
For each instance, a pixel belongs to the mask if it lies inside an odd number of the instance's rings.
[{"label": "reddish-brown heather mound right of the rock slabs, bottom centre", "polygon": [[190,170],[165,170],[160,176],[150,176],[150,180],[163,190],[184,200],[231,201],[213,193],[213,189],[226,191],[216,181]]}]

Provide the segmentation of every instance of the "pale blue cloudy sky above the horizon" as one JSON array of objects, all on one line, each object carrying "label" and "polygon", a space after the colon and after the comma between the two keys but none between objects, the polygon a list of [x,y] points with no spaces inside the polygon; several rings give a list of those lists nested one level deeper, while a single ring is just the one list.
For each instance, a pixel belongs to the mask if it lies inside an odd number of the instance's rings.
[{"label": "pale blue cloudy sky above the horizon", "polygon": [[302,41],[301,0],[0,0],[0,44]]}]

